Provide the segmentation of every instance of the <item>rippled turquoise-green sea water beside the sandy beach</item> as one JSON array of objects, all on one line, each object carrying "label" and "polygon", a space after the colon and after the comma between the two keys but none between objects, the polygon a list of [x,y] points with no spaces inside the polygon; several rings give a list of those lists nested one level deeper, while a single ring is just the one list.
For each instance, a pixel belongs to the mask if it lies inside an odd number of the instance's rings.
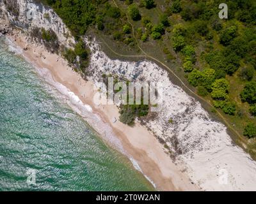
[{"label": "rippled turquoise-green sea water beside the sandy beach", "polygon": [[[35,184],[27,182],[33,172]],[[29,173],[30,174],[30,173]],[[35,177],[34,177],[35,175]],[[147,191],[109,148],[0,37],[0,191]]]}]

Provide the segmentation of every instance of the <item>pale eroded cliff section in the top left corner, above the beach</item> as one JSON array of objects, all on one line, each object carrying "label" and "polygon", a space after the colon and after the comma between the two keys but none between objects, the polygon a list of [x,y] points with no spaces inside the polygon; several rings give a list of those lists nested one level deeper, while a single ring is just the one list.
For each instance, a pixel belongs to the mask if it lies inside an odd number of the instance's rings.
[{"label": "pale eroded cliff section in the top left corner, above the beach", "polygon": [[0,16],[2,30],[8,29],[8,24],[19,27],[31,34],[33,29],[46,31],[51,29],[58,36],[60,45],[74,44],[74,38],[60,17],[51,9],[36,3],[35,0],[1,0]]}]

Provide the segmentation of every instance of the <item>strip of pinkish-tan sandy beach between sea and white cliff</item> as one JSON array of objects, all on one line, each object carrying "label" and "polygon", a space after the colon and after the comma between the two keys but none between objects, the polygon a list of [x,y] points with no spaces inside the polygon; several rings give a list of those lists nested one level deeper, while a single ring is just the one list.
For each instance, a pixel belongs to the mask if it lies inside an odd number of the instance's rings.
[{"label": "strip of pinkish-tan sandy beach between sea and white cliff", "polygon": [[[79,73],[72,71],[72,68],[67,66],[67,62],[56,54],[50,54],[43,47],[36,47],[35,44],[28,45],[23,34],[19,36],[8,35],[8,38],[20,47],[20,50],[24,47],[28,48],[28,50],[22,50],[20,55],[36,68],[49,70],[55,82],[67,87],[84,105],[92,107],[92,112],[112,129],[114,135],[122,143],[124,150],[136,160],[141,168],[141,173],[156,184],[157,190],[196,191],[199,189],[195,184],[192,184],[185,173],[182,173],[182,167],[179,168],[172,162],[163,145],[147,128],[138,123],[136,123],[136,127],[131,128],[118,120],[113,123],[113,119],[118,119],[118,108],[115,105],[95,105],[93,95],[97,92],[96,87],[92,82],[84,81]],[[95,129],[92,122],[88,123]],[[97,128],[95,131],[97,131]],[[99,133],[99,131],[97,132]],[[99,134],[102,135],[102,133]]]}]

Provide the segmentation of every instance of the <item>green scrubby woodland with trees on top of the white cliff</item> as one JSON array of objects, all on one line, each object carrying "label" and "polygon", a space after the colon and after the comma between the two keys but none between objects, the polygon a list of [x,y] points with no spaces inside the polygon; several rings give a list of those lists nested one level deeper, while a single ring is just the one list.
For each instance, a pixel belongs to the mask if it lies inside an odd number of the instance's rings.
[{"label": "green scrubby woodland with trees on top of the white cliff", "polygon": [[[88,29],[108,36],[119,46],[131,48],[134,54],[141,49],[151,50],[150,54],[156,53],[154,57],[159,61],[175,63],[178,75],[195,94],[212,104],[212,113],[224,115],[243,136],[243,143],[256,137],[256,1],[44,0],[43,3],[60,15],[76,37],[76,49],[65,53],[70,63],[76,55],[82,56],[82,70],[86,72],[90,54],[80,38]],[[227,19],[218,16],[221,3],[228,6]],[[125,111],[133,113],[137,109],[125,106],[121,118],[125,115],[134,118],[134,114]],[[254,139],[247,143],[252,149],[256,149]]]}]

